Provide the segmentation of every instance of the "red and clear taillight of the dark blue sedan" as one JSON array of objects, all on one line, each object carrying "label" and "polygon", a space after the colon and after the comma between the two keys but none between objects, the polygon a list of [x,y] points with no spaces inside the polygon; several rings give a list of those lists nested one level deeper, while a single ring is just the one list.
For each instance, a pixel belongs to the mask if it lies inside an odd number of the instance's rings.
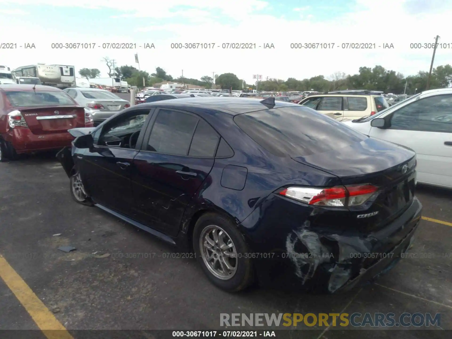
[{"label": "red and clear taillight of the dark blue sedan", "polygon": [[360,184],[331,188],[289,187],[282,189],[279,194],[308,205],[348,207],[362,205],[377,191],[376,186]]}]

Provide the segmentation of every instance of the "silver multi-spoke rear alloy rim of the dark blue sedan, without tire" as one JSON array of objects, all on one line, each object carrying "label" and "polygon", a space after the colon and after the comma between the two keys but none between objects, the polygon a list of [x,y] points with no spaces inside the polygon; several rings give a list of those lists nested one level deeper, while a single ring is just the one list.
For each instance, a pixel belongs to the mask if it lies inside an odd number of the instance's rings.
[{"label": "silver multi-spoke rear alloy rim of the dark blue sedan, without tire", "polygon": [[237,251],[231,237],[221,227],[206,226],[199,236],[199,250],[209,271],[222,280],[237,271]]}]

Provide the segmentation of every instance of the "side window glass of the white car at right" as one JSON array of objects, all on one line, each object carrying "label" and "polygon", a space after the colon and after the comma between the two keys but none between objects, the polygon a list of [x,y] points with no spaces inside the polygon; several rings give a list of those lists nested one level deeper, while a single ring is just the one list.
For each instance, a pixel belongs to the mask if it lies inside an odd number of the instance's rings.
[{"label": "side window glass of the white car at right", "polygon": [[391,129],[452,133],[452,95],[419,99],[397,109]]}]

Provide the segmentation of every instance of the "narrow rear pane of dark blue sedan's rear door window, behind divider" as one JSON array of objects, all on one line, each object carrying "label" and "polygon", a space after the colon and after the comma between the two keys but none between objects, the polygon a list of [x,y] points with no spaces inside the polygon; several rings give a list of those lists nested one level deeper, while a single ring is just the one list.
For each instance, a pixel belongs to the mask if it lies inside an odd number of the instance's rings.
[{"label": "narrow rear pane of dark blue sedan's rear door window, behind divider", "polygon": [[217,132],[215,132],[207,122],[199,120],[188,155],[206,157],[215,156],[219,139],[220,137]]}]

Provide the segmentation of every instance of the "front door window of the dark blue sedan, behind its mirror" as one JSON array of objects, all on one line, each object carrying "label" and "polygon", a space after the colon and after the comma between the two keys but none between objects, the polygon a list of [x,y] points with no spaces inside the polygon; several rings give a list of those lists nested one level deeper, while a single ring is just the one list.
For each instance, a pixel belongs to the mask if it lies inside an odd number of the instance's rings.
[{"label": "front door window of the dark blue sedan, behind its mirror", "polygon": [[[149,115],[149,112],[145,112],[140,110],[136,114],[120,115],[113,119],[102,129],[97,145],[131,148],[129,145],[130,137],[135,132],[140,132],[143,128]],[[138,133],[136,133],[136,136],[138,137]],[[137,137],[134,138],[135,142]]]}]

